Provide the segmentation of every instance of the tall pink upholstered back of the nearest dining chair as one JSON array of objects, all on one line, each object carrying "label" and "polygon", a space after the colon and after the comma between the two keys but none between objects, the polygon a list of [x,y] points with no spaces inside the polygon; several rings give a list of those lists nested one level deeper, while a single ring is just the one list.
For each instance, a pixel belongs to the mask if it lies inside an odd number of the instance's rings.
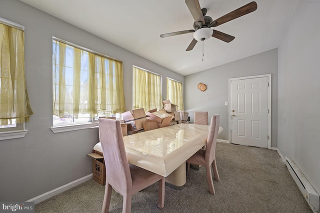
[{"label": "tall pink upholstered back of the nearest dining chair", "polygon": [[120,194],[132,190],[121,125],[118,120],[99,118],[99,137],[105,162],[106,182]]}]

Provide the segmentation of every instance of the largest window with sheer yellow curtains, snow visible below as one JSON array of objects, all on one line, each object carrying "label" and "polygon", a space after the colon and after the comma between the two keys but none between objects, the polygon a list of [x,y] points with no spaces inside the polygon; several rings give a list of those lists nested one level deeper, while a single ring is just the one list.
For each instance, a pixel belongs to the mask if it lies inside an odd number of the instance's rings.
[{"label": "largest window with sheer yellow curtains, snow visible below", "polygon": [[122,62],[52,39],[53,127],[124,112]]}]

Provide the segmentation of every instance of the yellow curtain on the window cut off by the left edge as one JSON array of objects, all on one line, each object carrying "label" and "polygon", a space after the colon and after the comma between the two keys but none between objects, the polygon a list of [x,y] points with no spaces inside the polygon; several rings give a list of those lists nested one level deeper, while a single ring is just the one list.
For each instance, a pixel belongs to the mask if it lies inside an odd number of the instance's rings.
[{"label": "yellow curtain on the window cut off by the left edge", "polygon": [[33,114],[24,78],[24,32],[0,23],[0,124]]}]

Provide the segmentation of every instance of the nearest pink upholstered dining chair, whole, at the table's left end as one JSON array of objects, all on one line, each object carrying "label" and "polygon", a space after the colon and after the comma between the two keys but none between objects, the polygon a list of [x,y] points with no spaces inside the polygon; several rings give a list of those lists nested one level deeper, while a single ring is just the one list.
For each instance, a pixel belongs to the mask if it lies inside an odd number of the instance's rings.
[{"label": "nearest pink upholstered dining chair, whole, at the table's left end", "polygon": [[132,194],[158,181],[158,207],[164,207],[165,177],[128,163],[120,122],[99,118],[99,136],[105,162],[102,213],[108,212],[112,188],[123,196],[122,212],[131,211]]}]

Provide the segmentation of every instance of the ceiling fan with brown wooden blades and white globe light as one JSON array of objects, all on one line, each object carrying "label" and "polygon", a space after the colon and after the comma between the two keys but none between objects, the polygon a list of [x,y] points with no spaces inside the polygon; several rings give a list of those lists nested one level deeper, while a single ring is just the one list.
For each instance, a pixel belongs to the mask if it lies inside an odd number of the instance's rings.
[{"label": "ceiling fan with brown wooden blades and white globe light", "polygon": [[211,36],[217,39],[223,40],[225,42],[230,42],[231,40],[234,39],[234,36],[217,31],[215,29],[211,29],[211,27],[218,26],[222,23],[233,20],[247,13],[253,12],[257,8],[256,2],[252,1],[215,20],[212,20],[210,16],[205,15],[207,12],[207,9],[200,8],[200,4],[198,0],[185,0],[185,4],[187,5],[194,19],[193,29],[169,32],[169,33],[161,34],[160,37],[168,37],[172,35],[179,35],[179,34],[193,32],[194,38],[192,39],[189,46],[186,48],[186,51],[192,50],[198,41],[206,40]]}]

